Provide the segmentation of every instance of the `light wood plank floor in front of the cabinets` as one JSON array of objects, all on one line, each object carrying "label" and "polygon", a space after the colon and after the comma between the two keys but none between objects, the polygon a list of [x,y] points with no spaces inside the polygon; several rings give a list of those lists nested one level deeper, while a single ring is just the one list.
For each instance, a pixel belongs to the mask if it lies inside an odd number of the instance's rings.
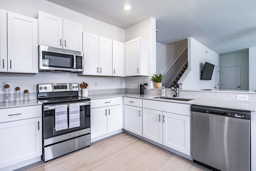
[{"label": "light wood plank floor in front of the cabinets", "polygon": [[209,171],[192,161],[120,133],[26,171]]}]

